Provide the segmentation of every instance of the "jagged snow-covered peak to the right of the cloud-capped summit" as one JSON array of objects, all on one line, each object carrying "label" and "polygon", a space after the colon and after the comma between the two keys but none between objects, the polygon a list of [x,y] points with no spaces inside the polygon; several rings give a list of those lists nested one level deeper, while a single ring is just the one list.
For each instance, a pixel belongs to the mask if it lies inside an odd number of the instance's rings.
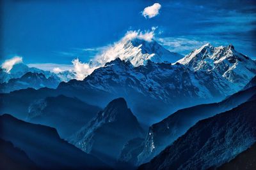
[{"label": "jagged snow-covered peak to the right of the cloud-capped summit", "polygon": [[177,62],[195,71],[214,71],[235,83],[233,88],[237,90],[256,74],[256,62],[237,52],[232,45],[214,47],[208,43]]}]

